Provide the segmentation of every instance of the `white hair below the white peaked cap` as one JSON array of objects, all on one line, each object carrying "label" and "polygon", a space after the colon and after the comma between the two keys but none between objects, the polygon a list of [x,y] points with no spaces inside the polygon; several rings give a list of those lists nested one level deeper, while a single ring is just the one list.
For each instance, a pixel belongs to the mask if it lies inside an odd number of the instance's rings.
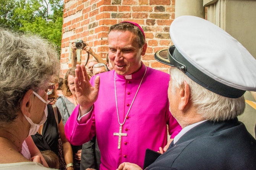
[{"label": "white hair below the white peaked cap", "polygon": [[201,114],[206,120],[223,121],[234,119],[245,111],[245,99],[227,98],[217,95],[197,84],[176,67],[171,67],[170,76],[172,81],[172,90],[184,87],[186,81],[190,87],[190,101],[196,107],[197,113]]}]

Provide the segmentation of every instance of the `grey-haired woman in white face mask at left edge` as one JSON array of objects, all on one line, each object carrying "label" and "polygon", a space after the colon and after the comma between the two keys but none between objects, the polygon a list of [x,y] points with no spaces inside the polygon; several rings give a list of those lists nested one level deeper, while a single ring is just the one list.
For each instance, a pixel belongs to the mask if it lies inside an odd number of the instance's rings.
[{"label": "grey-haired woman in white face mask at left edge", "polygon": [[21,149],[47,118],[47,85],[59,68],[47,41],[0,28],[0,169],[48,169]]}]

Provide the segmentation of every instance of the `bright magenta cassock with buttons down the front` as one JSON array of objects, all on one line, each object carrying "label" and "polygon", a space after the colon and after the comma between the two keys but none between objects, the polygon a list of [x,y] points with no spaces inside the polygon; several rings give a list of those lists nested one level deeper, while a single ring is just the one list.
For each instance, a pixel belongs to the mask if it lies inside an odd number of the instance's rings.
[{"label": "bright magenta cassock with buttons down the front", "polygon": [[[120,123],[130,108],[146,66],[129,76],[116,75],[117,101]],[[138,94],[122,127],[121,148],[118,149],[119,123],[115,100],[115,71],[98,74],[100,89],[89,119],[78,120],[79,105],[65,125],[65,134],[73,145],[81,145],[96,134],[101,153],[101,170],[117,169],[122,162],[131,162],[143,168],[147,148],[159,151],[167,144],[167,125],[174,138],[181,130],[169,112],[167,89],[170,75],[147,67]],[[130,79],[132,78],[132,79]],[[94,86],[95,76],[90,82]],[[90,113],[89,113],[90,114]]]}]

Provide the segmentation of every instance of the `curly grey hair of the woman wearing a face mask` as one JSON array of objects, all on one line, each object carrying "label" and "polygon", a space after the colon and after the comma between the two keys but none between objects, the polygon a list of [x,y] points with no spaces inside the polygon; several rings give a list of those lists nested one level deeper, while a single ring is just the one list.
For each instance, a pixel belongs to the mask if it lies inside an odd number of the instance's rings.
[{"label": "curly grey hair of the woman wearing a face mask", "polygon": [[35,35],[18,34],[0,28],[0,122],[18,117],[25,93],[37,92],[60,71],[58,53]]}]

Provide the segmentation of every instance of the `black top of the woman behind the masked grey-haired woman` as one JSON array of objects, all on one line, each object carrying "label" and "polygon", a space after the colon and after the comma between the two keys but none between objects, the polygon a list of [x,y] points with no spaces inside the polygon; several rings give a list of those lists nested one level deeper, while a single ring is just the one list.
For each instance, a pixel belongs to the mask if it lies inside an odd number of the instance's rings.
[{"label": "black top of the woman behind the masked grey-haired woman", "polygon": [[[47,120],[44,123],[42,135],[38,132],[35,135],[31,135],[34,143],[40,151],[52,150],[58,155],[58,125],[55,119],[53,108],[51,104],[47,105],[48,116]],[[58,122],[61,121],[60,111],[57,108],[58,112]]]}]

